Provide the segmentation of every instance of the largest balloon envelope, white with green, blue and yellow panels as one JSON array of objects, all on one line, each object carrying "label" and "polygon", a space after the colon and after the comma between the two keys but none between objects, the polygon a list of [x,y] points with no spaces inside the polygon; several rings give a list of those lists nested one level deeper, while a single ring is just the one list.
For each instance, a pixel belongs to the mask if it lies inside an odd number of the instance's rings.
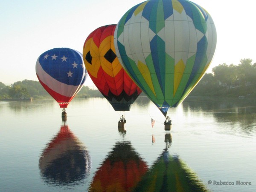
[{"label": "largest balloon envelope, white with green, blue and yellow panels", "polygon": [[209,13],[188,0],[140,3],[114,33],[120,63],[165,117],[203,77],[216,39]]}]

